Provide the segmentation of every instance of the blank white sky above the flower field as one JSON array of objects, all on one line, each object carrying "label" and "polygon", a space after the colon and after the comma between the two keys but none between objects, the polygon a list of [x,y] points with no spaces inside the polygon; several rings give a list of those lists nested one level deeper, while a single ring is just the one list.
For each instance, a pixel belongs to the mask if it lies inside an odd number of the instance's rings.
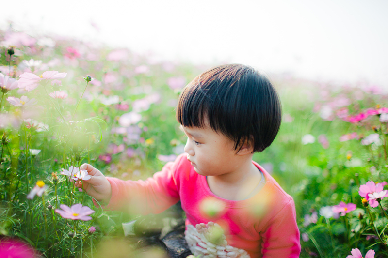
[{"label": "blank white sky above the flower field", "polygon": [[53,32],[141,53],[152,50],[166,60],[240,62],[266,73],[366,79],[388,88],[386,0],[18,0],[11,5],[1,12],[2,29],[12,20],[14,28],[32,35]]}]

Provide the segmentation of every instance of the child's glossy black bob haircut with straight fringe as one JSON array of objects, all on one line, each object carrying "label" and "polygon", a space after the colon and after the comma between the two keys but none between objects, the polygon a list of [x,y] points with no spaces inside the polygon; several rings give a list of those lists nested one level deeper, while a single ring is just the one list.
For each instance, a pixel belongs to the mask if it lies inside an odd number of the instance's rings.
[{"label": "child's glossy black bob haircut with straight fringe", "polygon": [[186,127],[211,129],[233,140],[240,151],[247,142],[253,152],[271,145],[281,123],[281,104],[271,82],[242,64],[211,68],[181,92],[176,117]]}]

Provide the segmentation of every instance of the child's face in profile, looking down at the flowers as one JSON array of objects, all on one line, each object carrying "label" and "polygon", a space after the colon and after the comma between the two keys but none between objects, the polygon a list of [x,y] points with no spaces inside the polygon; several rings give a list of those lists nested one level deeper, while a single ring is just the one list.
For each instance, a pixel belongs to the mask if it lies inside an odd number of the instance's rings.
[{"label": "child's face in profile, looking down at the flowers", "polygon": [[203,176],[219,176],[239,169],[241,156],[233,150],[234,142],[214,132],[209,123],[204,128],[181,125],[180,129],[187,136],[184,150],[195,172]]}]

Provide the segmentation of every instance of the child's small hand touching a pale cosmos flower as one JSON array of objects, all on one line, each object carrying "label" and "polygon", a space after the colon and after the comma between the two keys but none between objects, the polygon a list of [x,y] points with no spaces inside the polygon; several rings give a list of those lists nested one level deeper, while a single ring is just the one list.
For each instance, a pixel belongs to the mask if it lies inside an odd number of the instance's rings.
[{"label": "child's small hand touching a pale cosmos flower", "polygon": [[87,170],[90,175],[89,180],[80,180],[75,182],[75,186],[82,188],[88,195],[94,197],[98,201],[109,203],[112,196],[111,183],[105,178],[105,176],[97,168],[89,164],[82,164],[81,170]]}]

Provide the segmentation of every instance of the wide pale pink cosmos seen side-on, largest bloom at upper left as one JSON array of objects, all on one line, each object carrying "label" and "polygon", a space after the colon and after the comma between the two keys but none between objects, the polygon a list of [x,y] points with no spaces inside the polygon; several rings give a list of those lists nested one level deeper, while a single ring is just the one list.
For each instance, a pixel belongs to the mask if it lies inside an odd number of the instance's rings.
[{"label": "wide pale pink cosmos seen side-on, largest bloom at upper left", "polygon": [[24,73],[20,76],[19,88],[26,91],[32,91],[38,87],[39,82],[42,80],[55,80],[65,78],[67,73],[59,73],[58,71],[46,71],[41,76],[34,75],[32,73]]}]

